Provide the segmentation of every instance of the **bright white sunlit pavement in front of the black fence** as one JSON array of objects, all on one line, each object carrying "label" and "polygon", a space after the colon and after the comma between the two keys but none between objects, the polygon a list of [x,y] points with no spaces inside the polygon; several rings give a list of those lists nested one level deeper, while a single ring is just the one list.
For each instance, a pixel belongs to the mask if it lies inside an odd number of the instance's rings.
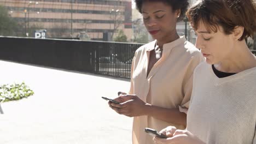
[{"label": "bright white sunlit pavement in front of the black fence", "polygon": [[129,81],[5,61],[0,68],[0,85],[24,81],[35,93],[1,103],[0,143],[132,143],[132,118],[101,98],[127,92]]}]

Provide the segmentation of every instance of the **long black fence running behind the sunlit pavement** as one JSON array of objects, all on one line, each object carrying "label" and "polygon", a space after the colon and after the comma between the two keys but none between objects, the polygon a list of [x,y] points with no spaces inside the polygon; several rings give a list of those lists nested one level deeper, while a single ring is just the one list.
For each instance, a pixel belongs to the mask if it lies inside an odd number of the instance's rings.
[{"label": "long black fence running behind the sunlit pavement", "polygon": [[142,44],[0,37],[0,59],[130,79]]}]

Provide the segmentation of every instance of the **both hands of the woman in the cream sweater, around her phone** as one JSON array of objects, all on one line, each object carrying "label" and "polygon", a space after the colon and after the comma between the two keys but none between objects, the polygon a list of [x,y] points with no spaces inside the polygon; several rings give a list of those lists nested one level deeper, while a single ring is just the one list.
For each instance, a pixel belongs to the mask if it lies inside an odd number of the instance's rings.
[{"label": "both hands of the woman in the cream sweater, around her phone", "polygon": [[160,131],[162,134],[166,134],[167,139],[161,139],[154,137],[153,140],[156,144],[205,144],[195,135],[188,130],[176,129],[176,127],[167,127]]}]

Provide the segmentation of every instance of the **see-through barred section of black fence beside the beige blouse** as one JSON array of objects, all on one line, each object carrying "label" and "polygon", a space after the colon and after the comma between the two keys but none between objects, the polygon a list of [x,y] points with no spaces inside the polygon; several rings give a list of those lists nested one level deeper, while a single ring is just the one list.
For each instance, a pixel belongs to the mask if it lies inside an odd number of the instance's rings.
[{"label": "see-through barred section of black fence beside the beige blouse", "polygon": [[[100,43],[92,53],[94,73],[130,79],[135,51],[142,44]],[[95,59],[93,59],[95,57]],[[94,60],[94,61],[93,61]]]}]

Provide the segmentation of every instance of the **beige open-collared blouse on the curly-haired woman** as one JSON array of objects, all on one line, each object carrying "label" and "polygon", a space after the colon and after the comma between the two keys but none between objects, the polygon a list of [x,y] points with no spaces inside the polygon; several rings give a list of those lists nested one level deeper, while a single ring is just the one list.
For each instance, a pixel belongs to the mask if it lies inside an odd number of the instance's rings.
[{"label": "beige open-collared blouse on the curly-haired woman", "polygon": [[[181,37],[164,44],[162,57],[155,63],[147,76],[150,51],[154,50],[155,41],[139,47],[135,52],[131,69],[131,88],[129,94],[136,94],[146,103],[168,109],[188,108],[193,84],[193,71],[202,61],[203,56],[196,47]],[[160,119],[139,116],[133,119],[132,143],[154,143],[152,136],[144,128],[160,131],[168,125],[184,129],[161,121]]]}]

